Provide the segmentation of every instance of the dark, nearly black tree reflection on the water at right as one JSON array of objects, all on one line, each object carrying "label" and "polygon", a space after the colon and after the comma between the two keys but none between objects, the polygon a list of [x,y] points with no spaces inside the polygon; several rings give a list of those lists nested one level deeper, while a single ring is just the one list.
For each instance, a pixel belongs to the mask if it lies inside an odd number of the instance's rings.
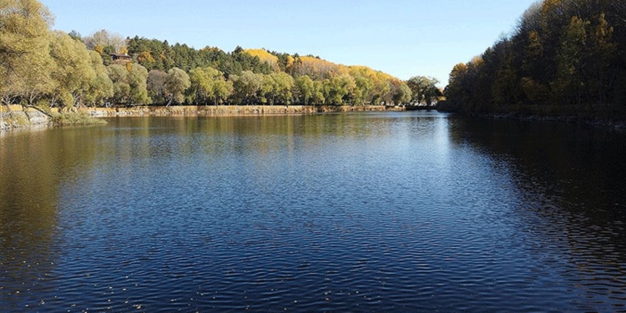
[{"label": "dark, nearly black tree reflection on the water at right", "polygon": [[[455,145],[508,163],[525,202],[520,215],[531,213],[522,217],[531,217],[528,230],[552,242],[565,239],[565,247],[557,249],[570,252],[568,261],[588,275],[565,277],[599,284],[595,292],[608,297],[616,284],[623,286],[625,134],[564,123],[458,118],[450,125],[450,137]],[[612,284],[606,284],[607,277]]]}]

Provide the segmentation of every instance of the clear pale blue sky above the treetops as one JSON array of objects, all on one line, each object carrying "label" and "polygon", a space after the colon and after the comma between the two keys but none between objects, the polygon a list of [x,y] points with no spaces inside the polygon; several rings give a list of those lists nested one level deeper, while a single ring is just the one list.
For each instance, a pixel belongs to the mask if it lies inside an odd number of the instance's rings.
[{"label": "clear pale blue sky above the treetops", "polygon": [[408,79],[448,80],[515,26],[535,0],[42,0],[54,28],[107,29],[186,43],[314,54]]}]

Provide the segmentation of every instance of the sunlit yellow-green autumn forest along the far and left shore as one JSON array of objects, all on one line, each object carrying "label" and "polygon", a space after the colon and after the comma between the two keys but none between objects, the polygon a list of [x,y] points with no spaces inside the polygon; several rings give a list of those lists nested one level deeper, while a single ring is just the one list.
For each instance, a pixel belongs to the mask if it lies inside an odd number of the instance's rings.
[{"label": "sunlit yellow-green autumn forest along the far and left shore", "polygon": [[0,1],[0,98],[4,105],[398,105],[433,104],[433,78],[401,81],[317,56],[185,44],[106,30],[53,31],[36,0]]}]

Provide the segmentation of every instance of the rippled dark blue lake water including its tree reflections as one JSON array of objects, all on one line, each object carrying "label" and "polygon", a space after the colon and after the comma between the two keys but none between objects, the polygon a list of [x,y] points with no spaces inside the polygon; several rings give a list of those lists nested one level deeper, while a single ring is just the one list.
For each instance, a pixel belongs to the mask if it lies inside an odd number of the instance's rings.
[{"label": "rippled dark blue lake water including its tree reflections", "polygon": [[0,137],[1,311],[626,311],[625,133],[108,121]]}]

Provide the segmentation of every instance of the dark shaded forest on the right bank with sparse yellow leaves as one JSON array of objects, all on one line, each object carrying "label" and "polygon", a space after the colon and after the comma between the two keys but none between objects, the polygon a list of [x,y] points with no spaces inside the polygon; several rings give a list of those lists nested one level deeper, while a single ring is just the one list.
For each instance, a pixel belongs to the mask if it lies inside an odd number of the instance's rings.
[{"label": "dark shaded forest on the right bank with sparse yellow leaves", "polygon": [[626,1],[545,0],[510,36],[450,74],[466,112],[626,113]]}]

